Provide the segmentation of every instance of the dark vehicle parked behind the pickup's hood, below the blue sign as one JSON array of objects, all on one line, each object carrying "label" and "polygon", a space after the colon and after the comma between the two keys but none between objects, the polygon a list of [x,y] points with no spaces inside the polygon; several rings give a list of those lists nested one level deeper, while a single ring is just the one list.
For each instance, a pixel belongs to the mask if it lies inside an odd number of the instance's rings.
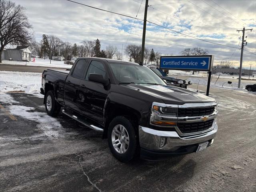
[{"label": "dark vehicle parked behind the pickup's hood, below the blue sign", "polygon": [[172,85],[172,86],[177,86],[177,87],[182,87],[182,88],[187,88],[188,85],[192,84],[192,81],[189,81],[188,83],[186,82],[186,80],[182,80],[182,79],[178,79],[178,78],[174,78],[174,77],[169,77],[166,72],[163,72],[161,69],[159,68],[154,68],[154,67],[150,67],[150,69],[152,71],[154,71],[158,76],[160,76],[163,80],[166,80],[166,83],[168,85]]}]

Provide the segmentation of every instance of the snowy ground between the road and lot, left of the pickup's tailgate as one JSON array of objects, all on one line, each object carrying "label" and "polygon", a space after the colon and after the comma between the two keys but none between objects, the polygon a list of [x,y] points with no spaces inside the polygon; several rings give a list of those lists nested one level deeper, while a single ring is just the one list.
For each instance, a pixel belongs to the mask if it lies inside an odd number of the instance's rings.
[{"label": "snowy ground between the road and lot, left of the pickup's tailgate", "polygon": [[41,73],[0,71],[0,92],[25,92],[41,96]]}]

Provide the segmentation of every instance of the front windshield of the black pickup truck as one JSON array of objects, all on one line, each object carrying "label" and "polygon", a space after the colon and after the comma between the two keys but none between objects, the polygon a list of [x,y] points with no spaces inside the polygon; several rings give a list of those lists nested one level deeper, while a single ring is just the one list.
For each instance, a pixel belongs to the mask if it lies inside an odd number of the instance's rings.
[{"label": "front windshield of the black pickup truck", "polygon": [[110,67],[119,84],[136,83],[166,85],[157,74],[146,66],[110,63]]}]

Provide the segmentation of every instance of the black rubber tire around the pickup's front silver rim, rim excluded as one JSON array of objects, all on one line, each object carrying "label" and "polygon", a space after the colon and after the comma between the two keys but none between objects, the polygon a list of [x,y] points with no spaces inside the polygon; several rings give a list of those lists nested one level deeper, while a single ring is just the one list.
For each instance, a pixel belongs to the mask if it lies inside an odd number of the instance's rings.
[{"label": "black rubber tire around the pickup's front silver rim, rim excluded", "polygon": [[[129,145],[123,154],[118,153],[112,144],[112,132],[116,125],[122,125],[126,128],[129,135]],[[115,117],[109,124],[108,127],[108,146],[113,156],[120,160],[121,162],[128,162],[138,156],[138,135],[135,130],[135,123],[128,117],[125,116],[117,116]]]}]

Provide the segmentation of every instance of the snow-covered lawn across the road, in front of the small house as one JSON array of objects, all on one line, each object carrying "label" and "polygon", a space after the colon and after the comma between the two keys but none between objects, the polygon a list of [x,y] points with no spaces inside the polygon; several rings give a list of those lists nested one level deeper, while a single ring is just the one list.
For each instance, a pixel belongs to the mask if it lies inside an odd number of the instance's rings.
[{"label": "snow-covered lawn across the road, in front of the small house", "polygon": [[[31,58],[33,59],[33,58]],[[24,62],[24,61],[9,61],[9,60],[2,60],[2,64],[9,64],[9,65],[26,65],[26,66],[40,66],[40,67],[54,67],[54,68],[66,68],[70,69],[72,65],[64,64],[64,61],[54,61],[49,59],[40,59],[35,58],[35,62]]]}]

